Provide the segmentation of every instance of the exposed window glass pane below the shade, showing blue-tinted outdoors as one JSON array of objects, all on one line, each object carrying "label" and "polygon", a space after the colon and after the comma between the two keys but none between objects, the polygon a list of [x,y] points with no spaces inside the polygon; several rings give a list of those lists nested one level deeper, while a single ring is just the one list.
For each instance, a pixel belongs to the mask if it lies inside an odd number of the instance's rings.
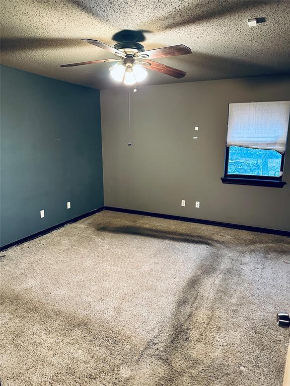
[{"label": "exposed window glass pane below the shade, showing blue-tinted outdoors", "polygon": [[279,177],[282,155],[275,150],[230,146],[228,174]]}]

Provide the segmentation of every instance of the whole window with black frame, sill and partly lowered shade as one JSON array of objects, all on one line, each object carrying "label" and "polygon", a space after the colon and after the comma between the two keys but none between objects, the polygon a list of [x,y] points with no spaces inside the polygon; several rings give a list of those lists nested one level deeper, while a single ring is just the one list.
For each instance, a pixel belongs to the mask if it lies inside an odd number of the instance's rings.
[{"label": "whole window with black frame, sill and partly lowered shade", "polygon": [[229,104],[224,183],[282,187],[290,101]]}]

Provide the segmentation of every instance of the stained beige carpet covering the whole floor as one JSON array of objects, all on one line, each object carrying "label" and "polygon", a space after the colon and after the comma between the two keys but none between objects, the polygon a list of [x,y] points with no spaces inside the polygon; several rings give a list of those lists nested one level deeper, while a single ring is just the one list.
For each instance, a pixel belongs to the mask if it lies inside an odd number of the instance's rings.
[{"label": "stained beige carpet covering the whole floor", "polygon": [[290,239],[102,212],[2,252],[2,386],[280,386]]}]

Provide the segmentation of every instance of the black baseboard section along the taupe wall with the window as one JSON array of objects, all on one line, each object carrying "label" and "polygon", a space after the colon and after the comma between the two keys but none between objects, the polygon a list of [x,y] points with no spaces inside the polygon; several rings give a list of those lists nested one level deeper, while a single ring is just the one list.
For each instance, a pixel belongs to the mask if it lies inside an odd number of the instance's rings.
[{"label": "black baseboard section along the taupe wall with the window", "polygon": [[231,224],[231,223],[222,223],[220,221],[201,220],[201,219],[194,219],[191,217],[165,215],[162,213],[154,213],[154,212],[136,211],[133,209],[123,209],[123,208],[114,208],[114,207],[104,207],[103,209],[106,211],[130,213],[132,215],[151,216],[151,217],[158,217],[161,219],[187,221],[189,223],[197,223],[197,224],[205,224],[205,225],[214,225],[217,227],[240,229],[242,231],[269,233],[271,235],[280,235],[280,236],[288,236],[288,237],[290,236],[290,231],[281,231],[278,229],[252,227],[252,226],[248,226],[248,225],[239,225],[239,224]]}]

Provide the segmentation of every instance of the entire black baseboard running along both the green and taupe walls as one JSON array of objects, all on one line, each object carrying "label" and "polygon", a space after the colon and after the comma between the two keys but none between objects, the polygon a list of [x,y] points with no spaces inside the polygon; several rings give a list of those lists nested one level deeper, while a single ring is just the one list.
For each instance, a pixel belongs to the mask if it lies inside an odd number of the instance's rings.
[{"label": "entire black baseboard running along both the green and taupe walls", "polygon": [[239,225],[239,224],[231,224],[231,223],[222,223],[219,221],[211,221],[211,220],[202,220],[202,219],[194,219],[191,217],[183,217],[183,216],[174,216],[174,215],[166,215],[163,213],[154,213],[154,212],[144,212],[144,211],[137,211],[133,209],[124,209],[124,208],[114,208],[114,207],[101,207],[98,209],[95,209],[91,212],[85,213],[84,215],[75,217],[74,219],[70,219],[67,221],[64,221],[61,224],[54,225],[53,227],[44,229],[43,231],[34,233],[33,235],[24,237],[23,239],[14,241],[13,243],[6,244],[1,247],[1,251],[4,251],[5,249],[11,248],[15,245],[22,244],[26,241],[33,240],[37,237],[43,236],[49,232],[54,231],[55,229],[61,228],[66,224],[75,223],[76,221],[82,220],[86,217],[92,216],[98,212],[102,211],[113,211],[113,212],[122,212],[122,213],[129,213],[132,215],[141,215],[141,216],[150,216],[150,217],[157,217],[161,219],[169,219],[169,220],[177,220],[177,221],[187,221],[190,223],[197,223],[197,224],[206,224],[206,225],[213,225],[217,227],[225,227],[225,228],[234,228],[234,229],[240,229],[242,231],[251,231],[251,232],[260,232],[260,233],[269,233],[272,235],[280,235],[280,236],[288,236],[290,237],[290,231],[281,231],[278,229],[269,229],[269,228],[261,228],[261,227],[252,227],[248,225]]}]

